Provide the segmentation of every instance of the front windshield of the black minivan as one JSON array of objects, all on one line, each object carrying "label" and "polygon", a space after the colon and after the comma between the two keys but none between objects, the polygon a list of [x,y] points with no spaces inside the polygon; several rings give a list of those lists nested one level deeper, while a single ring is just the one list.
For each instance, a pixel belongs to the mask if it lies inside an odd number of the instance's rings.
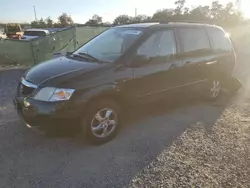
[{"label": "front windshield of the black minivan", "polygon": [[141,30],[112,28],[92,39],[74,54],[89,54],[104,62],[114,62],[138,39]]}]

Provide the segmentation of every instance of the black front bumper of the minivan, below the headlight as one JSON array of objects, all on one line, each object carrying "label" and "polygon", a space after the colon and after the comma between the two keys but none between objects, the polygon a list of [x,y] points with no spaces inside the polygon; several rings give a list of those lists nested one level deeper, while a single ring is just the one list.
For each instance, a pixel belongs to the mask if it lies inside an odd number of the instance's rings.
[{"label": "black front bumper of the minivan, below the headlight", "polygon": [[13,102],[18,115],[28,128],[44,132],[47,130],[75,130],[79,127],[80,110],[74,108],[74,104],[69,101],[44,102],[15,97]]}]

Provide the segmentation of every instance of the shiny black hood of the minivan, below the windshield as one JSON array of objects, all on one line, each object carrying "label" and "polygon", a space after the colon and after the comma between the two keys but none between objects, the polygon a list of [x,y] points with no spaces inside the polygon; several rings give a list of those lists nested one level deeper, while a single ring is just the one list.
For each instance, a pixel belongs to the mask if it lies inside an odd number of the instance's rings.
[{"label": "shiny black hood of the minivan, below the windshield", "polygon": [[68,74],[82,74],[103,66],[100,63],[85,62],[67,57],[51,59],[31,68],[25,74],[25,79],[39,85],[50,79],[66,77]]}]

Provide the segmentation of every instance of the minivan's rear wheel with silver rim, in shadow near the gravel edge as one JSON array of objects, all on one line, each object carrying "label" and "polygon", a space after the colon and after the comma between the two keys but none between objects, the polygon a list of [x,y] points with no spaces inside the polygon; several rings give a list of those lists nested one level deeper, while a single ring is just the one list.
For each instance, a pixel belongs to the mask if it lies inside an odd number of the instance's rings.
[{"label": "minivan's rear wheel with silver rim, in shadow near the gravel edge", "polygon": [[205,96],[208,100],[214,101],[218,99],[222,92],[221,81],[218,79],[211,79],[207,83]]}]

